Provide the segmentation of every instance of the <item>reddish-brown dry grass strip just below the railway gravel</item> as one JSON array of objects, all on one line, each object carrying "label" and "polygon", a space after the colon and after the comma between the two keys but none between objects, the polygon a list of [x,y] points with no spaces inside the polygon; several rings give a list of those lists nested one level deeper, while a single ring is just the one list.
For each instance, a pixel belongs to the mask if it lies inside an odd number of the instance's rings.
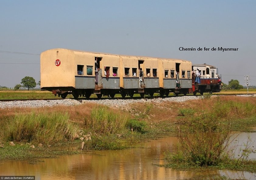
[{"label": "reddish-brown dry grass strip just below the railway gravel", "polygon": [[[147,121],[148,123],[157,123],[161,121],[176,122],[178,117],[178,110],[180,108],[191,108],[195,110],[195,116],[200,116],[203,112],[209,112],[210,110],[216,109],[215,106],[217,102],[234,102],[241,103],[241,106],[245,104],[251,104],[256,106],[255,97],[236,97],[236,96],[220,96],[210,99],[198,99],[189,100],[182,103],[177,102],[164,102],[164,103],[135,103],[129,105],[127,109],[133,117],[140,117],[140,119]],[[15,114],[20,113],[31,113],[31,112],[43,112],[43,113],[53,113],[67,112],[70,116],[72,122],[78,123],[82,127],[89,127],[91,125],[91,112],[92,108],[99,106],[94,103],[85,103],[79,106],[54,106],[54,107],[43,107],[43,108],[0,108],[0,126],[1,123],[8,121],[9,118],[14,117]],[[149,111],[146,112],[147,108]],[[122,112],[121,109],[116,109],[115,111]],[[220,112],[222,113],[222,112]],[[228,116],[233,117],[243,117],[246,112],[236,112],[231,110],[228,112]],[[253,113],[253,112],[252,112]],[[179,119],[184,119],[185,117],[178,117]]]}]

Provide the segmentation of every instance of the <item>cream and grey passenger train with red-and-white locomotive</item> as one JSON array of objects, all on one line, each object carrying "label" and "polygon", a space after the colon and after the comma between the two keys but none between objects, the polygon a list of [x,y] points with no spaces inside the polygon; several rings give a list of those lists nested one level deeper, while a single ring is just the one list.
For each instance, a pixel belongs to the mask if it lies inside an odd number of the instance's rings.
[{"label": "cream and grey passenger train with red-and-white locomotive", "polygon": [[[199,69],[200,83],[195,82]],[[169,93],[179,94],[220,92],[218,68],[191,61],[126,56],[70,49],[50,49],[40,55],[41,89],[55,96],[74,99],[98,98],[116,94],[122,97],[134,94],[161,97]]]}]

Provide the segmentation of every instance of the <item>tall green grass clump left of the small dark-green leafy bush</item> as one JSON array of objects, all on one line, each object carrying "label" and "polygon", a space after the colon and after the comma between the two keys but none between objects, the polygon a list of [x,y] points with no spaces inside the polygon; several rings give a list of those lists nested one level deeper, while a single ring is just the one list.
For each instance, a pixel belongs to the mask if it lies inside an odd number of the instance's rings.
[{"label": "tall green grass clump left of the small dark-green leafy bush", "polygon": [[97,106],[92,109],[91,118],[94,132],[117,133],[125,130],[129,115],[116,112],[108,106]]}]

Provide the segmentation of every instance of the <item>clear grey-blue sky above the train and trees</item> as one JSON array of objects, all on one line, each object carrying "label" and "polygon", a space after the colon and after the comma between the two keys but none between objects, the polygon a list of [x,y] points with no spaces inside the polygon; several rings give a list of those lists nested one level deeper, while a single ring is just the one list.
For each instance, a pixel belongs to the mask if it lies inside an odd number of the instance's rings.
[{"label": "clear grey-blue sky above the train and trees", "polygon": [[0,85],[14,87],[25,76],[38,82],[39,54],[52,48],[185,59],[217,66],[224,83],[237,79],[244,86],[250,75],[256,85],[255,7],[255,0],[3,0]]}]

